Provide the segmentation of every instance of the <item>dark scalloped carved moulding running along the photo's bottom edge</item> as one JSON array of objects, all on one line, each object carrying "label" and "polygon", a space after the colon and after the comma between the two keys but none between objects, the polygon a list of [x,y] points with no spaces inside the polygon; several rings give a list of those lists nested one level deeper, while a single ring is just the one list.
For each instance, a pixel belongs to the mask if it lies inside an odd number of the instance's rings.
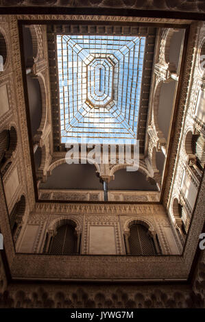
[{"label": "dark scalloped carved moulding running along the photo's bottom edge", "polygon": [[[82,284],[11,283],[6,296],[0,297],[1,308],[203,308],[204,264],[202,253],[193,284]],[[0,258],[0,267],[1,258]],[[0,269],[5,290],[4,272]],[[35,297],[34,297],[35,295]],[[46,295],[46,296],[45,296]]]}]

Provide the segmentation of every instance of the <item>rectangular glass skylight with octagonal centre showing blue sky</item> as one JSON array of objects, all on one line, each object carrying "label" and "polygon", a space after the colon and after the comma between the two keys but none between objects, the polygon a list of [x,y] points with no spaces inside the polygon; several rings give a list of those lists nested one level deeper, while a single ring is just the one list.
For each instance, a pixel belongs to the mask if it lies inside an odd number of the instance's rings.
[{"label": "rectangular glass skylight with octagonal centre showing blue sky", "polygon": [[145,37],[57,35],[62,143],[136,143]]}]

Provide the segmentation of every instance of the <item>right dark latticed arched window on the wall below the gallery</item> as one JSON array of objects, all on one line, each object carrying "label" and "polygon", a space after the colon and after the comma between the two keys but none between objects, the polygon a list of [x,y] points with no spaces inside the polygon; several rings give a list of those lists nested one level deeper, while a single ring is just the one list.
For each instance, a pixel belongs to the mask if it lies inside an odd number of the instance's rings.
[{"label": "right dark latticed arched window on the wall below the gallery", "polygon": [[128,238],[130,255],[134,256],[155,256],[156,249],[154,240],[149,235],[147,227],[140,223],[130,226],[130,236]]}]

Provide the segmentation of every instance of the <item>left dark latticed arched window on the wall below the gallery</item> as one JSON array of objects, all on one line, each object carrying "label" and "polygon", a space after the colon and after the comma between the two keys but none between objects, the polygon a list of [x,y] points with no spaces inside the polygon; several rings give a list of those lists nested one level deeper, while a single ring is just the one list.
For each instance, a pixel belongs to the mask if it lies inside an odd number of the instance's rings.
[{"label": "left dark latticed arched window on the wall below the gallery", "polygon": [[66,223],[58,227],[56,235],[51,238],[49,253],[53,255],[77,253],[77,235],[73,224]]}]

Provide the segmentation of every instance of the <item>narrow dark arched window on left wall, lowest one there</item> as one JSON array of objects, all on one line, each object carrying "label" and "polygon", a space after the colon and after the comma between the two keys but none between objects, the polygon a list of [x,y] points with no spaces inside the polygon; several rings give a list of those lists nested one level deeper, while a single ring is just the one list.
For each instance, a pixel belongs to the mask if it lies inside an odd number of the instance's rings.
[{"label": "narrow dark arched window on left wall, lowest one there", "polygon": [[[22,227],[22,219],[25,213],[25,197],[22,195],[21,199],[15,203],[12,212],[10,213],[10,227],[12,236],[15,240],[18,238]],[[16,236],[18,234],[18,236]]]}]

